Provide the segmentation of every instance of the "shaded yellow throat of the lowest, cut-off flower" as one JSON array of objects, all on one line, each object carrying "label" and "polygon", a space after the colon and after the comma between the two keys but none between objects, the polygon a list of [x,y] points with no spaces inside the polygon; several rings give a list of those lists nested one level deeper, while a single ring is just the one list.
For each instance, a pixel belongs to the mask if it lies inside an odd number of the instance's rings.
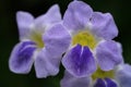
[{"label": "shaded yellow throat of the lowest, cut-off flower", "polygon": [[97,69],[97,71],[92,75],[93,80],[97,78],[114,78],[115,77],[115,71],[103,71],[100,67]]}]

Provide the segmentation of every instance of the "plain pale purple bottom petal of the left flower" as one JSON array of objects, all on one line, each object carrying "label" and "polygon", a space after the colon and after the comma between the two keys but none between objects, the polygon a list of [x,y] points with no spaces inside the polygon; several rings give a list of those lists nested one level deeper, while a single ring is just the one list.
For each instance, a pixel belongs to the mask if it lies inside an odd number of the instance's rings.
[{"label": "plain pale purple bottom petal of the left flower", "polygon": [[38,78],[57,75],[59,72],[60,58],[55,58],[45,49],[37,53],[35,71]]}]

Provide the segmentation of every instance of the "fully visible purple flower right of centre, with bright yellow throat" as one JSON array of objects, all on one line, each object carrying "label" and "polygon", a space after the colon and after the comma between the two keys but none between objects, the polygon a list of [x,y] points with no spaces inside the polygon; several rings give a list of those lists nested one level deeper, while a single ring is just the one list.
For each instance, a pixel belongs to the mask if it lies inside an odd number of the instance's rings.
[{"label": "fully visible purple flower right of centre, with bright yellow throat", "polygon": [[76,77],[92,75],[97,66],[111,71],[122,62],[119,42],[112,39],[118,29],[110,13],[93,12],[83,1],[72,1],[64,15],[71,48],[62,58],[66,70]]}]

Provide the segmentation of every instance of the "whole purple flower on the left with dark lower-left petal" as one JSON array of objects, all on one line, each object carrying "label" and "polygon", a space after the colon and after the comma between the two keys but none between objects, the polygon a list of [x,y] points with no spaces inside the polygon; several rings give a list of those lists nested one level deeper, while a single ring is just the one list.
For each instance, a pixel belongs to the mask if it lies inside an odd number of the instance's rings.
[{"label": "whole purple flower on the left with dark lower-left petal", "polygon": [[38,78],[58,74],[61,55],[71,39],[61,25],[59,7],[52,5],[46,14],[37,18],[28,12],[19,11],[16,22],[20,42],[10,55],[10,70],[27,74],[34,64]]}]

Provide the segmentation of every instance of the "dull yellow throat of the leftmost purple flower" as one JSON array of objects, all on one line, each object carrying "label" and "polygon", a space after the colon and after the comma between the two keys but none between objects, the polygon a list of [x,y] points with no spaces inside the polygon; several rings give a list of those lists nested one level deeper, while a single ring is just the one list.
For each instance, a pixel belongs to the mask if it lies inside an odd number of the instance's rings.
[{"label": "dull yellow throat of the leftmost purple flower", "polygon": [[38,48],[43,48],[44,47],[44,40],[43,40],[43,33],[39,32],[32,32],[31,34],[31,40],[33,40]]}]

